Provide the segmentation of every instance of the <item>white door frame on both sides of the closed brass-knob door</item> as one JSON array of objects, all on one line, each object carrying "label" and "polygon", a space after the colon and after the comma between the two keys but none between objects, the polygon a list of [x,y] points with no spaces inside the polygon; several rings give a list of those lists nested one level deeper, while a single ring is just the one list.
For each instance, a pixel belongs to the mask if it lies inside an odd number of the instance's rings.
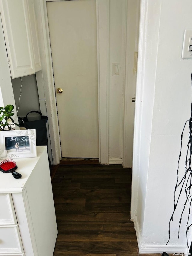
[{"label": "white door frame on both sides of the closed brass-knob door", "polygon": [[[59,135],[57,104],[54,75],[52,68],[51,45],[46,2],[56,0],[35,0],[35,11],[38,20],[39,42],[41,49],[42,71],[36,75],[38,91],[44,91],[47,115],[49,118],[49,134],[51,140],[53,164],[61,160],[61,144]],[[61,0],[73,1],[73,0]],[[98,50],[98,116],[99,116],[99,161],[108,164],[108,104],[109,104],[109,0],[96,0],[97,15],[97,50]],[[106,54],[107,53],[107,54]]]}]

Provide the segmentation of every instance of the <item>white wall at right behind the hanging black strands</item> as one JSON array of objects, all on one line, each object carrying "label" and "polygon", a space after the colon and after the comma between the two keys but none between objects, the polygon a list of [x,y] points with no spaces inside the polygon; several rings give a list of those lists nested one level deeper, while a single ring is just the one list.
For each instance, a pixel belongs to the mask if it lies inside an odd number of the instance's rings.
[{"label": "white wall at right behind the hanging black strands", "polygon": [[192,60],[181,59],[181,54],[184,29],[192,29],[191,8],[190,0],[142,1],[131,202],[140,253],[186,252],[185,221],[177,239],[183,202],[165,244],[180,136],[190,117]]}]

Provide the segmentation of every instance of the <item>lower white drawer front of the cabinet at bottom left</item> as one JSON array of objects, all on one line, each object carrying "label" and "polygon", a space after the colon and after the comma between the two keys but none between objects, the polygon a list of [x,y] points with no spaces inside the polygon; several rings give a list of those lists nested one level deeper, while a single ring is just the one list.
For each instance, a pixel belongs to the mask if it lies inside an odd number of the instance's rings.
[{"label": "lower white drawer front of the cabinet at bottom left", "polygon": [[0,255],[23,253],[18,225],[0,227]]}]

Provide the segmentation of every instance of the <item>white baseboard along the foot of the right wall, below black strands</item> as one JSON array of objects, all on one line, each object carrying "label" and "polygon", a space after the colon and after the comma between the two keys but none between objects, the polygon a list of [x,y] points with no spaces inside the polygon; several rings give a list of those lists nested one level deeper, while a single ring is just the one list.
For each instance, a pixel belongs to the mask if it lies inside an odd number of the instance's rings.
[{"label": "white baseboard along the foot of the right wall, below black strands", "polygon": [[163,252],[167,252],[167,253],[184,253],[186,252],[186,247],[182,246],[182,245],[154,245],[154,244],[142,244],[142,236],[141,236],[141,232],[139,230],[139,224],[137,222],[137,217],[134,216],[134,227],[135,227],[135,231],[136,231],[136,236],[137,236],[137,243],[138,243],[138,247],[139,247],[139,253],[163,253]]}]

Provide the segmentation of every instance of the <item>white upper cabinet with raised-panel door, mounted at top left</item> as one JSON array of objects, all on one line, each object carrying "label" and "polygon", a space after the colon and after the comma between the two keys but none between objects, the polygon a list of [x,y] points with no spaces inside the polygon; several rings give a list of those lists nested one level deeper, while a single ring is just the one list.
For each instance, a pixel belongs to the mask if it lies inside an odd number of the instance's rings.
[{"label": "white upper cabinet with raised-panel door, mounted at top left", "polygon": [[0,0],[11,77],[41,70],[34,0]]}]

